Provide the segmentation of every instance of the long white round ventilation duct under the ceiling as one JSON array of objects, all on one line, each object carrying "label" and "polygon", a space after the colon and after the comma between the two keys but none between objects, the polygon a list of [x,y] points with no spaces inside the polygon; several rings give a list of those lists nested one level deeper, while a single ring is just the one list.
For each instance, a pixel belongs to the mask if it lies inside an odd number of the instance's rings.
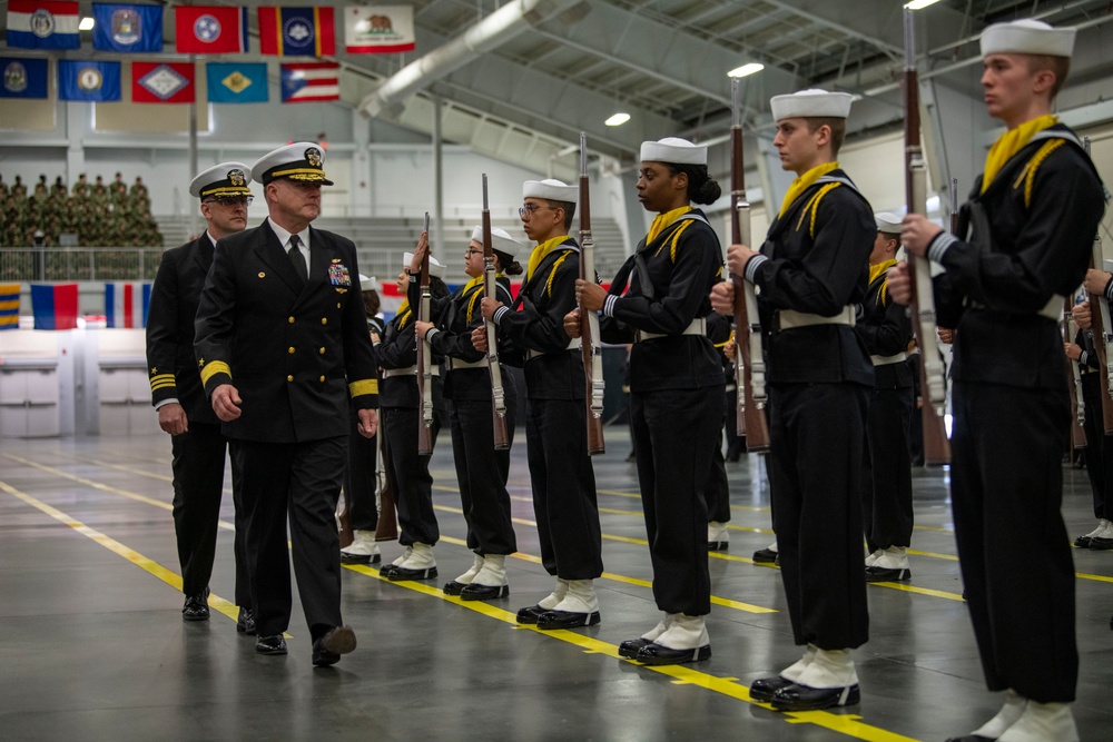
[{"label": "long white round ventilation duct under the ceiling", "polygon": [[413,61],[388,78],[359,103],[359,112],[374,118],[397,107],[412,92],[460,69],[486,51],[499,48],[532,24],[559,13],[580,0],[513,0],[475,26]]}]

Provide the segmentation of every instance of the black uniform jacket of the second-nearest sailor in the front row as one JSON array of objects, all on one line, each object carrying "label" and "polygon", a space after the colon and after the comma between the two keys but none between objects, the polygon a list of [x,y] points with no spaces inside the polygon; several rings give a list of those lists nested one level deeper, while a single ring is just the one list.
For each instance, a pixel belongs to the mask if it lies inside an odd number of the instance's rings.
[{"label": "black uniform jacket of the second-nearest sailor in the front row", "polygon": [[751,258],[746,270],[759,288],[770,383],[873,387],[873,364],[853,327],[812,325],[781,333],[778,313],[833,317],[860,304],[876,236],[869,204],[840,169],[817,179],[769,226],[762,257]]}]

